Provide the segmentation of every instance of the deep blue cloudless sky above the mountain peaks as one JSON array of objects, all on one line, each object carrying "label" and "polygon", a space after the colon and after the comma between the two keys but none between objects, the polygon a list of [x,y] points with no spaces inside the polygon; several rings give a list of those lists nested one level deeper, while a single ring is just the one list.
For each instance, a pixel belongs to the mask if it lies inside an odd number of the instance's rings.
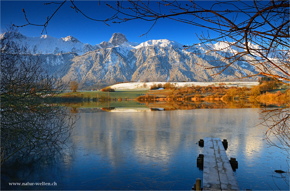
[{"label": "deep blue cloudless sky above the mountain peaks", "polygon": [[[28,20],[34,24],[44,24],[46,17],[53,14],[59,4],[44,5],[51,1],[0,1],[0,24],[1,31],[5,24],[24,25],[27,24],[22,9],[25,9]],[[57,1],[54,1],[57,2]],[[74,1],[75,4],[87,13],[89,16],[98,19],[106,19],[114,12],[101,1]],[[116,1],[106,1],[114,5]],[[180,1],[182,2],[182,1]],[[150,1],[156,5],[156,1]],[[182,3],[185,3],[183,1]],[[201,4],[211,4],[209,1],[199,1]],[[130,42],[145,42],[151,39],[170,39],[175,40],[181,44],[197,43],[198,39],[195,35],[201,34],[201,30],[206,31],[196,26],[184,24],[171,19],[159,19],[157,24],[146,36],[138,37],[146,33],[152,26],[152,22],[134,20],[122,24],[108,23],[107,26],[102,22],[92,21],[85,18],[80,13],[70,8],[71,3],[67,1],[54,17],[49,21],[46,28],[47,35],[61,38],[66,36],[73,36],[83,43],[92,45],[99,44],[102,41],[109,41],[113,33],[123,33]],[[19,27],[19,32],[30,37],[41,36],[43,27],[41,26],[24,26]],[[45,32],[43,34],[46,34]]]}]

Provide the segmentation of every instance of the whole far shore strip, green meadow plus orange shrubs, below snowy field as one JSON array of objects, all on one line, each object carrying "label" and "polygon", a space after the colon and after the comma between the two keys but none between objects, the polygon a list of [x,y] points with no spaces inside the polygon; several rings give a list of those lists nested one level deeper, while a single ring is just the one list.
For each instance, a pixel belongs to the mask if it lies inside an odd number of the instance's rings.
[{"label": "whole far shore strip, green meadow plus orange shrubs, below snowy field", "polygon": [[[251,88],[231,86],[224,83],[219,86],[189,86],[176,88],[171,83],[153,84],[149,90],[141,91],[115,91],[107,87],[103,91],[87,91],[64,93],[55,98],[57,101],[81,100],[138,100],[138,101],[163,101],[163,100],[234,100],[258,99],[273,103],[283,102],[289,98],[289,85],[279,85],[277,82],[260,82],[260,85]],[[283,94],[286,91],[286,94]],[[287,98],[288,96],[288,98]]]}]

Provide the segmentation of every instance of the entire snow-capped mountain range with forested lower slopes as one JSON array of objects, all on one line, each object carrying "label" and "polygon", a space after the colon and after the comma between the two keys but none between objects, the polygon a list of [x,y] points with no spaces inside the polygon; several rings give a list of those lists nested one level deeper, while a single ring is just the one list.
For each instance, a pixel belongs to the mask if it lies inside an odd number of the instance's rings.
[{"label": "entire snow-capped mountain range with forested lower slopes", "polygon": [[[147,80],[235,81],[235,75],[240,76],[241,72],[244,75],[257,73],[252,65],[238,61],[221,75],[209,78],[219,70],[207,70],[203,66],[221,64],[218,61],[221,57],[217,53],[209,52],[204,45],[184,50],[182,44],[168,39],[149,40],[138,44],[129,42],[121,33],[114,33],[108,42],[93,46],[72,36],[57,39],[48,35],[27,37],[19,33],[15,41],[27,43],[30,51],[44,60],[43,66],[50,73],[57,73],[63,80],[76,80],[81,87]],[[215,46],[225,54],[240,51],[227,48],[226,43],[207,46]]]}]

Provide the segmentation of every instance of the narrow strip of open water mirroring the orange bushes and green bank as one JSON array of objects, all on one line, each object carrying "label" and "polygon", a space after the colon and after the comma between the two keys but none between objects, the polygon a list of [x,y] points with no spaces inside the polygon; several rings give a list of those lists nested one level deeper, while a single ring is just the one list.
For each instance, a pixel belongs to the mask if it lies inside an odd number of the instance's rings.
[{"label": "narrow strip of open water mirroring the orange bushes and green bank", "polygon": [[72,102],[71,112],[142,112],[142,111],[174,111],[190,109],[241,109],[280,107],[258,100],[208,100],[208,101],[82,101]]}]

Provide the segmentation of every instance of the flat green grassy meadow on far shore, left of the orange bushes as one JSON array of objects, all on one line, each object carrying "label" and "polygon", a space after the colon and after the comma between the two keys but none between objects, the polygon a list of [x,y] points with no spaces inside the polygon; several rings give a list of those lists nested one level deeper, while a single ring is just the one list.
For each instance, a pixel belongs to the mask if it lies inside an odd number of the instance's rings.
[{"label": "flat green grassy meadow on far shore, left of the orange bushes", "polygon": [[87,98],[89,96],[90,99],[92,98],[100,98],[100,97],[109,97],[112,99],[136,99],[140,95],[145,95],[147,93],[146,90],[118,90],[116,92],[103,92],[103,91],[78,91],[78,92],[70,92],[70,93],[64,93],[63,95],[69,95],[69,96],[81,96],[83,95],[84,98]]}]

